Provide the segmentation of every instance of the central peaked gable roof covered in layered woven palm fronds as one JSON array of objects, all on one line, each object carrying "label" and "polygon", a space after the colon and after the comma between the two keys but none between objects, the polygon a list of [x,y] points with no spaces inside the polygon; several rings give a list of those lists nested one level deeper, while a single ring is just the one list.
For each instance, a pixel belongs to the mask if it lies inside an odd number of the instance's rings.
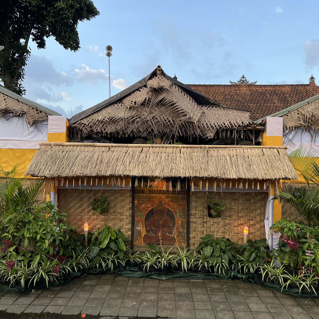
[{"label": "central peaked gable roof covered in layered woven palm fronds", "polygon": [[71,134],[213,138],[216,131],[250,123],[249,112],[229,109],[167,76],[160,66],[146,78],[70,119]]}]

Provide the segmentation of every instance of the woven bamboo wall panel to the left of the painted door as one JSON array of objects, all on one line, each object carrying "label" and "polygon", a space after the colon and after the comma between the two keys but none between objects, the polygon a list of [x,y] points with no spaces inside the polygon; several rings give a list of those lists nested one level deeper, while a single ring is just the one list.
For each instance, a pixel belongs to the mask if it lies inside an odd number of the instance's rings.
[{"label": "woven bamboo wall panel to the left of the painted door", "polygon": [[79,189],[58,190],[58,208],[68,214],[68,220],[78,232],[83,232],[84,223],[89,223],[89,230],[97,227],[103,228],[109,225],[112,228],[121,228],[122,232],[131,239],[131,190],[114,189],[103,191],[103,195],[109,198],[109,211],[101,215],[92,211],[91,201],[94,197],[100,197],[101,191],[88,189],[86,192]]}]

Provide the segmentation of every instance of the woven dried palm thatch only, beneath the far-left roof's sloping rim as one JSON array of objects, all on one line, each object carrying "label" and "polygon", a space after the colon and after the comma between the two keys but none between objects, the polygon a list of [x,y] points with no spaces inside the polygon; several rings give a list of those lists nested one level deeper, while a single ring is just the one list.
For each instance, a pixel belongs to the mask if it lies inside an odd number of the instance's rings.
[{"label": "woven dried palm thatch only, beneath the far-left roof's sloping rim", "polygon": [[46,113],[17,101],[6,94],[0,93],[0,118],[10,119],[12,117],[21,117],[24,114],[25,121],[31,127],[48,119]]}]

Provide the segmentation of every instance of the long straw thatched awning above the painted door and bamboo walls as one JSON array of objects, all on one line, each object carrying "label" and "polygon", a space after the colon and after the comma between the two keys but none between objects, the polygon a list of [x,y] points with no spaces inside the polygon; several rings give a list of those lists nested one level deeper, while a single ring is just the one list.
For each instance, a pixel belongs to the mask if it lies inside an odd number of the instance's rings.
[{"label": "long straw thatched awning above the painted door and bamboo walls", "polygon": [[297,178],[285,147],[39,144],[27,175]]}]

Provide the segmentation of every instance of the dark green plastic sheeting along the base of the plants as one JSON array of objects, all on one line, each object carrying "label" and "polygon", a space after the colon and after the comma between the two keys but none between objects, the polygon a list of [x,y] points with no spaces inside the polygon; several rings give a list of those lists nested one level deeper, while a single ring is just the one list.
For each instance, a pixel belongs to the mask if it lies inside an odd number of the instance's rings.
[{"label": "dark green plastic sheeting along the base of the plants", "polygon": [[[318,297],[314,292],[308,292],[308,291],[302,291],[299,293],[299,289],[281,289],[281,286],[263,282],[261,278],[255,274],[239,274],[236,271],[228,271],[225,276],[219,275],[219,274],[212,274],[212,273],[201,273],[201,272],[181,272],[178,270],[170,270],[168,272],[150,272],[145,273],[141,270],[139,270],[138,267],[128,267],[128,266],[121,266],[116,269],[104,271],[103,269],[90,269],[87,273],[73,273],[69,275],[67,278],[63,278],[59,280],[56,283],[52,283],[49,285],[50,287],[56,287],[60,285],[64,285],[68,282],[70,282],[73,278],[76,277],[85,277],[88,274],[114,274],[117,273],[120,276],[123,277],[132,277],[132,278],[153,278],[153,279],[159,279],[159,280],[165,280],[165,279],[239,279],[243,282],[249,282],[249,283],[255,283],[259,284],[263,287],[266,287],[270,290],[281,292],[283,294],[295,296],[295,297]],[[13,291],[18,293],[30,293],[31,291],[36,290],[45,290],[47,289],[46,286],[37,287],[36,289],[30,289],[30,288],[21,288],[16,286],[9,287],[5,283],[0,283],[0,291]]]}]

